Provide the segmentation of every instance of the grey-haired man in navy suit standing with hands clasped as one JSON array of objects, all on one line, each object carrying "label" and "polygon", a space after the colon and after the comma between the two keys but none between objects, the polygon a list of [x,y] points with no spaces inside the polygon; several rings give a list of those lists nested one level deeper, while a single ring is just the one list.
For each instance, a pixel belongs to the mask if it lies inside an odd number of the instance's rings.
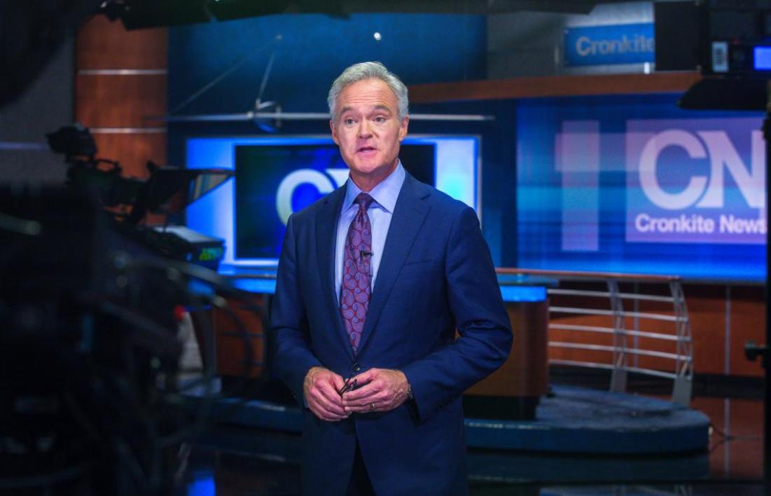
[{"label": "grey-haired man in navy suit standing with hands clasped", "polygon": [[395,75],[348,67],[328,104],[349,178],[289,218],[271,312],[274,371],[304,407],[303,491],[465,494],[461,394],[512,339],[490,251],[473,209],[399,162]]}]

